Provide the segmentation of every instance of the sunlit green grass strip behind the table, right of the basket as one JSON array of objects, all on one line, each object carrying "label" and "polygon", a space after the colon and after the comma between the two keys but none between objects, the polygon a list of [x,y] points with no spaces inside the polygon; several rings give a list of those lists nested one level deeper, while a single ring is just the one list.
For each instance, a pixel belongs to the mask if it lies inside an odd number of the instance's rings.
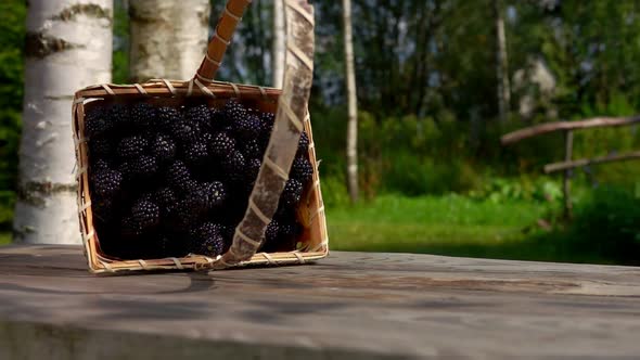
[{"label": "sunlit green grass strip behind the table, right of the basket", "polygon": [[536,224],[552,211],[535,202],[384,195],[328,209],[331,248],[571,262],[609,262]]}]

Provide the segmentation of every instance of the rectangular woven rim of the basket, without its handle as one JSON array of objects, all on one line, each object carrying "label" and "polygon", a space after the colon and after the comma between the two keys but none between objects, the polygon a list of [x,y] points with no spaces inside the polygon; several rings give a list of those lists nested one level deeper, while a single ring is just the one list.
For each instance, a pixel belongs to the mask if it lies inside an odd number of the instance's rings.
[{"label": "rectangular woven rim of the basket, without its handle", "polygon": [[[193,255],[182,258],[118,260],[102,254],[100,240],[93,227],[91,196],[89,193],[89,152],[88,139],[85,136],[85,110],[104,102],[128,102],[133,99],[148,99],[152,103],[182,103],[187,98],[206,99],[209,105],[221,105],[226,99],[240,98],[252,107],[265,112],[276,112],[280,91],[277,89],[214,82],[207,91],[192,89],[185,81],[155,81],[144,85],[115,86],[101,85],[89,87],[76,93],[73,105],[73,128],[76,142],[77,179],[78,179],[78,214],[85,255],[91,272],[117,272],[131,270],[184,270],[194,269],[203,263],[217,259]],[[244,265],[283,265],[304,263],[325,257],[329,253],[324,205],[320,192],[320,178],[316,159],[315,143],[310,119],[305,119],[305,130],[310,140],[309,159],[315,168],[312,185],[304,194],[298,207],[298,218],[305,227],[299,240],[298,249],[286,253],[258,253]]]}]

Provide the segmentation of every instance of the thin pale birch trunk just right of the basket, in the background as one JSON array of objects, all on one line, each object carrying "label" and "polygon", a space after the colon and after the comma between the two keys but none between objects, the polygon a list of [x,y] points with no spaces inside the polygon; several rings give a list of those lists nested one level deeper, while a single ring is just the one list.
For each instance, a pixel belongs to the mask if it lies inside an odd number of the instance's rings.
[{"label": "thin pale birch trunk just right of the basket, in the background", "polygon": [[351,1],[343,0],[345,76],[348,101],[347,124],[347,187],[351,203],[358,201],[358,99],[354,68],[354,38],[351,35]]}]

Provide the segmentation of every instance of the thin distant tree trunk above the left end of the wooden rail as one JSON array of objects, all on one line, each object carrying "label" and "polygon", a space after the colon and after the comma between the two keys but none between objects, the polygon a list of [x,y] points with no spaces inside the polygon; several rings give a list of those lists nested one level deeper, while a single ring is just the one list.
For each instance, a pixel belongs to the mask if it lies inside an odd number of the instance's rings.
[{"label": "thin distant tree trunk above the left end of the wooden rail", "polygon": [[494,15],[496,20],[496,79],[498,81],[498,114],[504,124],[509,116],[511,102],[511,86],[509,83],[509,68],[507,57],[507,35],[502,18],[501,0],[494,0]]}]

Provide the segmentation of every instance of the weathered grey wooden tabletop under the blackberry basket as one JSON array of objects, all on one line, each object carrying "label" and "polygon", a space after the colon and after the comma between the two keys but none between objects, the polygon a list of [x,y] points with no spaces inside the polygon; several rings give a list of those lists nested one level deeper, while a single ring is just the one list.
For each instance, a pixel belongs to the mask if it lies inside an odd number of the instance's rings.
[{"label": "weathered grey wooden tabletop under the blackberry basket", "polygon": [[640,269],[334,252],[311,266],[95,277],[0,247],[0,359],[640,357]]}]

